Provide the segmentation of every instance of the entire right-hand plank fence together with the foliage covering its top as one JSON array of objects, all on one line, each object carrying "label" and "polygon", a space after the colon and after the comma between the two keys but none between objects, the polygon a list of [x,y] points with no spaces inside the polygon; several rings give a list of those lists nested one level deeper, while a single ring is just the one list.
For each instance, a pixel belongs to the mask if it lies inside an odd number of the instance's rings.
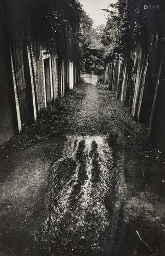
[{"label": "entire right-hand plank fence together with the foliage covering its top", "polygon": [[[117,0],[104,11],[107,12],[107,23],[102,33],[105,81],[116,97],[130,106],[133,117],[149,125],[153,142],[162,145],[164,124],[160,121],[162,114],[158,117],[157,113],[162,113],[163,108],[160,95],[163,94],[164,72],[162,69],[159,79],[158,68],[164,54],[165,5],[159,0]],[[119,82],[116,72],[120,72]],[[160,82],[154,106],[157,79]],[[157,131],[161,129],[161,136],[158,136]]]}]

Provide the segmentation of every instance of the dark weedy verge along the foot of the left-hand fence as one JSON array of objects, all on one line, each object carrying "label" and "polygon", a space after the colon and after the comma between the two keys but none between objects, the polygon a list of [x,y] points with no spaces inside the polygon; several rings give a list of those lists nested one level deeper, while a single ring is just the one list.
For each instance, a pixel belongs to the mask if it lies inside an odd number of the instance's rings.
[{"label": "dark weedy verge along the foot of the left-hand fence", "polygon": [[50,136],[65,136],[68,129],[68,121],[74,115],[76,105],[82,100],[83,93],[69,91],[66,97],[57,99],[45,109],[42,109],[37,121],[30,126],[24,126],[20,135],[17,135],[5,143],[1,150],[15,148],[22,150],[33,145],[37,141],[47,139]]}]

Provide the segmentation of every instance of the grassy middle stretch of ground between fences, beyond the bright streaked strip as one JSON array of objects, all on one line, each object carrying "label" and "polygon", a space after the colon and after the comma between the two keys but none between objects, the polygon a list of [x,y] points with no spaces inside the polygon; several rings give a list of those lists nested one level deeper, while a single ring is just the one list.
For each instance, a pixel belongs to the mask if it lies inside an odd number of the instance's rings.
[{"label": "grassy middle stretch of ground between fences, beyond the bright streaked strip", "polygon": [[[3,145],[1,150],[22,150],[50,136],[65,136],[68,133],[109,134],[111,142],[115,141],[119,145],[136,147],[142,144],[146,136],[144,127],[133,121],[128,108],[122,108],[122,103],[116,101],[109,91],[104,91],[102,86],[99,89],[101,90],[97,89],[97,93],[101,99],[98,100],[98,96],[93,95],[92,100],[89,100],[92,90],[89,88],[87,93],[80,84],[73,91],[69,91],[66,97],[57,99],[46,109],[42,109],[37,121],[25,126],[22,133]],[[100,115],[103,110],[106,114]]]}]

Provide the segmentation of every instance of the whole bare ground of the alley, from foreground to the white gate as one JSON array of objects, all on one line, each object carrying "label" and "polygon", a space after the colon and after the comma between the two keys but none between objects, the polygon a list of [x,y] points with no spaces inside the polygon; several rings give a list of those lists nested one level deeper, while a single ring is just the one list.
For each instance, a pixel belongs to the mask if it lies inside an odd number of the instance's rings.
[{"label": "whole bare ground of the alley, from foreground to the white gate", "polygon": [[0,255],[165,255],[161,152],[140,154],[144,128],[109,92],[75,93],[63,136],[0,159]]}]

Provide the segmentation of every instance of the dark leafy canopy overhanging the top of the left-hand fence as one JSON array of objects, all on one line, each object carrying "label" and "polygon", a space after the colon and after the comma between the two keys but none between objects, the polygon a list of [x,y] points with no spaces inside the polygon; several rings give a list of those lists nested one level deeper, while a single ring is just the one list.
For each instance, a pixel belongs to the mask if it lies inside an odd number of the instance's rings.
[{"label": "dark leafy canopy overhanging the top of the left-hand fence", "polygon": [[16,45],[34,37],[50,50],[65,49],[70,28],[76,48],[81,13],[77,0],[0,0],[0,11],[6,34]]}]

